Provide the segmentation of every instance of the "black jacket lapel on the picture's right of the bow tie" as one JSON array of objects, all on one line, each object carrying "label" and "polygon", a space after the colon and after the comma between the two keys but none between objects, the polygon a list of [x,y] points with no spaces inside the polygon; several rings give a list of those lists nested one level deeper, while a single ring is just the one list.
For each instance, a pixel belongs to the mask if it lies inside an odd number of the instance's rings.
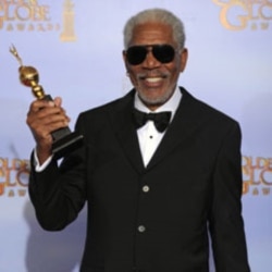
[{"label": "black jacket lapel on the picture's right of the bow tie", "polygon": [[161,160],[163,160],[176,148],[176,146],[187,139],[187,137],[190,137],[198,127],[199,121],[197,110],[195,108],[195,98],[193,98],[185,89],[181,89],[183,97],[176,114],[149,164],[147,165],[147,170],[153,168]]}]

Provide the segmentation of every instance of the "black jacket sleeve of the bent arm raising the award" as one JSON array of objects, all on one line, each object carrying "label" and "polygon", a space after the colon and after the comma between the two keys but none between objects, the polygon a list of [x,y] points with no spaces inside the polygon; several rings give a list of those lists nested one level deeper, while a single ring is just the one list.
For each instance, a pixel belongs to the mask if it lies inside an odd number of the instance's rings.
[{"label": "black jacket sleeve of the bent arm raising the award", "polygon": [[[77,121],[76,129],[81,122]],[[77,218],[86,199],[85,147],[63,159],[60,166],[52,159],[41,172],[36,172],[34,158],[28,191],[37,220],[47,231],[60,231]]]}]

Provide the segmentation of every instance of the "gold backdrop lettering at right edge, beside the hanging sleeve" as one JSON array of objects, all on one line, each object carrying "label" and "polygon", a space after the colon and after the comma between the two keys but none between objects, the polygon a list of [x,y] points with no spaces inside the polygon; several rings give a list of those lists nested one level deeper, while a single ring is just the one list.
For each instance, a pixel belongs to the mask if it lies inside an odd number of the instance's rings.
[{"label": "gold backdrop lettering at right edge, beside the hanging sleeve", "polygon": [[243,177],[244,186],[243,193],[251,194],[254,196],[262,194],[263,196],[270,195],[272,187],[272,158],[262,157],[243,157]]}]

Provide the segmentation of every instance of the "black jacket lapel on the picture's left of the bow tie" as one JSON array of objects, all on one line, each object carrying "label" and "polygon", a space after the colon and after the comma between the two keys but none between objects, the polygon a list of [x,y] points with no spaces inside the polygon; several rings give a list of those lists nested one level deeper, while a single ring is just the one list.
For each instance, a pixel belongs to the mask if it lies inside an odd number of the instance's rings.
[{"label": "black jacket lapel on the picture's left of the bow tie", "polygon": [[132,122],[132,110],[135,91],[131,91],[114,110],[110,112],[110,120],[116,138],[128,162],[137,172],[143,172],[144,162],[140,154],[136,128]]}]

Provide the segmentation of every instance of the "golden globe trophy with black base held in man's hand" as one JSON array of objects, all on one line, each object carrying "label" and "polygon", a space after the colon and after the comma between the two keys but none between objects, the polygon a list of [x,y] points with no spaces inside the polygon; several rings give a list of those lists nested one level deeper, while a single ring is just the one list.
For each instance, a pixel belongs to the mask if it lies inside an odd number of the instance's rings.
[{"label": "golden globe trophy with black base held in man's hand", "polygon": [[[10,48],[10,52],[16,58],[20,63],[18,73],[20,82],[30,87],[33,95],[37,99],[52,101],[50,95],[46,95],[41,85],[39,85],[38,71],[33,66],[24,66],[17,50],[14,46]],[[53,137],[52,153],[57,159],[67,154],[83,145],[83,135],[77,132],[72,133],[69,127],[63,127],[51,133]]]}]

